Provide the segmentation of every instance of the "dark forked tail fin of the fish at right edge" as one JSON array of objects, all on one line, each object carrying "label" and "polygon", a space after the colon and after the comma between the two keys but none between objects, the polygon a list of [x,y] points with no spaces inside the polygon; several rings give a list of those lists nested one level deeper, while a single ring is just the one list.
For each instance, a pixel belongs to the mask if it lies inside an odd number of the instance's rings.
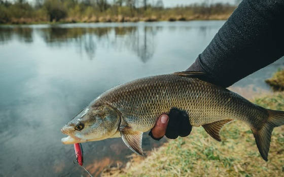
[{"label": "dark forked tail fin of the fish at right edge", "polygon": [[260,155],[265,161],[268,160],[267,157],[273,128],[284,124],[284,111],[267,109],[267,112],[269,116],[262,128],[259,130],[252,129]]}]

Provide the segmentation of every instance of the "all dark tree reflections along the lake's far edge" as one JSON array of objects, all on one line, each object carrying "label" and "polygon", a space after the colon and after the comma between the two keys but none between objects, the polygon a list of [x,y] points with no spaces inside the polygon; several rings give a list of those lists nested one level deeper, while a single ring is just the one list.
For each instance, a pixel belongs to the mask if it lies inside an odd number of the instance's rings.
[{"label": "all dark tree reflections along the lake's far edge", "polygon": [[[173,28],[173,27],[171,27]],[[98,45],[113,49],[126,48],[143,62],[149,61],[155,52],[155,35],[161,27],[99,27],[99,28],[62,28],[50,27],[37,29],[49,47],[76,45],[79,52],[85,52],[90,60],[95,57]],[[28,27],[0,28],[0,42],[7,43],[16,35],[18,40],[27,43],[33,40],[33,29]],[[110,36],[114,33],[114,36]]]}]

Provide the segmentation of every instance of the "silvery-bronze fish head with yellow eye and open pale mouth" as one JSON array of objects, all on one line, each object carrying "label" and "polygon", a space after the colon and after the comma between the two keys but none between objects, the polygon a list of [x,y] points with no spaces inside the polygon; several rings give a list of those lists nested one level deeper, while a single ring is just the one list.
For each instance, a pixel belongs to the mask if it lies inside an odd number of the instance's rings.
[{"label": "silvery-bronze fish head with yellow eye and open pale mouth", "polygon": [[61,128],[63,134],[68,135],[61,142],[75,144],[104,140],[117,132],[119,124],[120,114],[112,106],[89,105]]}]

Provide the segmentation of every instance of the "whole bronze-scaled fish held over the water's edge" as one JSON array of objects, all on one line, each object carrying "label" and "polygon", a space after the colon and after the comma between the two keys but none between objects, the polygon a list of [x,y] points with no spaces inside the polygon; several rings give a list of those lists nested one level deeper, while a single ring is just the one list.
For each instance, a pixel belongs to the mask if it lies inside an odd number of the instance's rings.
[{"label": "whole bronze-scaled fish held over the water's edge", "polygon": [[121,137],[133,152],[144,155],[143,132],[154,127],[172,108],[186,112],[191,126],[202,126],[222,141],[221,128],[233,120],[253,132],[262,158],[268,160],[274,127],[284,124],[284,112],[260,107],[208,81],[206,73],[183,71],[136,79],[105,91],[67,122],[63,144]]}]

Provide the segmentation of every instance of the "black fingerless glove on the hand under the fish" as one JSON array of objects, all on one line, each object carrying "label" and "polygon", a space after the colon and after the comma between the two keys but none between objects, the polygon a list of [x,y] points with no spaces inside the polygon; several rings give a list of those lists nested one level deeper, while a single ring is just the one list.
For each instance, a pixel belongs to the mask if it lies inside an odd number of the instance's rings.
[{"label": "black fingerless glove on the hand under the fish", "polygon": [[[168,126],[165,134],[168,139],[176,139],[179,136],[186,137],[190,134],[192,125],[190,124],[189,117],[185,111],[172,108],[168,113],[168,117]],[[154,138],[152,131],[149,132],[149,136],[157,141],[163,138]]]}]

